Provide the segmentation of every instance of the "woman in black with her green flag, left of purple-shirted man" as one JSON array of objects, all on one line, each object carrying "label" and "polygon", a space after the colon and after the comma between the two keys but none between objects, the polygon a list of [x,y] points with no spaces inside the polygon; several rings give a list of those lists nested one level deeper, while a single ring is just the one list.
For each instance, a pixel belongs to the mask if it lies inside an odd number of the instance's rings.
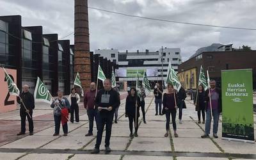
[{"label": "woman in black with her green flag, left of purple-shirted man", "polygon": [[203,124],[205,124],[205,90],[207,90],[207,81],[204,75],[204,69],[201,65],[200,74],[198,79],[198,89],[196,94],[194,95],[194,104],[196,106],[197,116],[198,116],[198,124],[201,123],[201,112],[203,118]]}]

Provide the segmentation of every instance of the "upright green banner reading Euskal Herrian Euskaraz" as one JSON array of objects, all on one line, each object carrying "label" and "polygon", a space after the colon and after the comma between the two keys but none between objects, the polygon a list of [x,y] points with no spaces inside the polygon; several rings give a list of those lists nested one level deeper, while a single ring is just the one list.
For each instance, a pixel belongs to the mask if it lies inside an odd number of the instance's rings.
[{"label": "upright green banner reading Euskal Herrian Euskaraz", "polygon": [[252,69],[222,70],[222,137],[254,141]]}]

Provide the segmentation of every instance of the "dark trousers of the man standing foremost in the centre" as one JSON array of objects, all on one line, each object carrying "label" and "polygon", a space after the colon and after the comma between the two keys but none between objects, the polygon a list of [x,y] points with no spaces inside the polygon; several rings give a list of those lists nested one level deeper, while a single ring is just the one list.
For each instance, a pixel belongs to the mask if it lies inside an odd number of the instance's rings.
[{"label": "dark trousers of the man standing foremost in the centre", "polygon": [[95,148],[100,148],[102,133],[103,133],[105,124],[106,124],[105,147],[109,147],[113,118],[114,118],[114,113],[108,113],[106,115],[97,113],[98,132],[97,132],[97,140],[96,140]]}]

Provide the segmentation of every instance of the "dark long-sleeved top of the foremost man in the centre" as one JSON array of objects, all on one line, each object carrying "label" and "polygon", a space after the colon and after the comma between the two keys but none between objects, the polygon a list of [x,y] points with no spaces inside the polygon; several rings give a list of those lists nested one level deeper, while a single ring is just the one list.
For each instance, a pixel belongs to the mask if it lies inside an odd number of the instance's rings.
[{"label": "dark long-sleeved top of the foremost man in the centre", "polygon": [[[102,103],[101,102],[101,97],[104,94],[110,95],[109,103]],[[101,89],[97,93],[97,96],[96,96],[96,99],[95,99],[95,107],[97,109],[98,109],[99,106],[102,107],[102,108],[108,108],[108,107],[112,106],[111,111],[108,111],[106,109],[102,109],[100,111],[100,114],[105,114],[106,115],[108,113],[114,113],[115,109],[118,108],[119,105],[120,105],[120,97],[119,97],[118,93],[115,90],[113,90],[113,88],[111,88],[110,91],[105,91],[104,89]]]}]

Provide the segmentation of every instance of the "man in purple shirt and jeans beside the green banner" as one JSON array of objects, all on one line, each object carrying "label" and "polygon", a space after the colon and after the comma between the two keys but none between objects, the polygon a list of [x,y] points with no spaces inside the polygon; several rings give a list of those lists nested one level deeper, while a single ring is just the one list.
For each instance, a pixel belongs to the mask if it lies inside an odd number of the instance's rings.
[{"label": "man in purple shirt and jeans beside the green banner", "polygon": [[[218,138],[218,125],[220,113],[222,111],[221,106],[221,90],[220,88],[216,88],[216,81],[210,81],[210,89],[205,91],[205,110],[206,110],[206,121],[205,121],[205,134],[201,136],[201,138],[209,138],[210,130],[211,130],[211,119],[213,116],[213,137]],[[211,97],[211,100],[210,100]],[[212,112],[212,116],[211,116]]]}]

